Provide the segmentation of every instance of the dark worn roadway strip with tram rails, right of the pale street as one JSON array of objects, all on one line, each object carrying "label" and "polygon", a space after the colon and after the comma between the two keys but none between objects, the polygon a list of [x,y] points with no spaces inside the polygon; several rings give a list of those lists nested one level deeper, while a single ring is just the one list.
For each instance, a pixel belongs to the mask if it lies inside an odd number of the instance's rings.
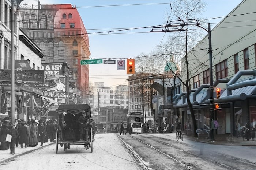
[{"label": "dark worn roadway strip with tram rails, right of the pale street", "polygon": [[[150,134],[117,135],[144,169],[255,169],[255,163],[215,151],[202,154],[204,144],[195,148],[176,138]],[[200,151],[200,153],[198,152]]]}]

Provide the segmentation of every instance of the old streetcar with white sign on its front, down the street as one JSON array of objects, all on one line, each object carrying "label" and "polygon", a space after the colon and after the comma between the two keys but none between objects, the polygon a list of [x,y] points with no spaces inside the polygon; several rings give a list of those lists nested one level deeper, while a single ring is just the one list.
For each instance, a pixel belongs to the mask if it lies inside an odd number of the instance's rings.
[{"label": "old streetcar with white sign on its front, down the street", "polygon": [[132,127],[132,133],[143,133],[144,116],[142,112],[131,112],[127,124]]}]

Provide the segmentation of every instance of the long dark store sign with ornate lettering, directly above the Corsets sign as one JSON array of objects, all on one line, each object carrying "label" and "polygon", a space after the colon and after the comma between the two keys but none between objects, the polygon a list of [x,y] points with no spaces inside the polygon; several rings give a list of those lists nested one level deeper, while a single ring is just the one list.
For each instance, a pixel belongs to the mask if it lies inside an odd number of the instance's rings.
[{"label": "long dark store sign with ornate lettering, directly above the Corsets sign", "polygon": [[[15,70],[14,80],[17,83],[22,82],[44,82],[45,71],[44,70]],[[0,70],[0,81],[9,82],[11,81],[11,70],[1,69]]]}]

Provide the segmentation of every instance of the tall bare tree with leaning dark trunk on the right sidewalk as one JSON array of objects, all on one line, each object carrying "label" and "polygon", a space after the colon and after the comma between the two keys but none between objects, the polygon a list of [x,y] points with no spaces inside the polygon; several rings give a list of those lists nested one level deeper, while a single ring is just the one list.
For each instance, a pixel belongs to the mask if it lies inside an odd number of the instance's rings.
[{"label": "tall bare tree with leaning dark trunk on the right sidewalk", "polygon": [[[196,15],[204,10],[204,7],[205,3],[202,0],[180,0],[172,3],[171,13],[177,20],[170,21],[169,27],[174,28],[174,32],[172,32],[167,42],[159,47],[163,54],[172,54],[172,61],[177,64],[177,67],[170,67],[170,71],[175,78],[180,80],[181,84],[186,89],[188,96],[187,103],[191,112],[193,135],[195,137],[197,124],[189,96],[191,94],[191,80],[193,83],[193,77],[198,74],[199,70],[202,70],[202,68],[206,66],[206,64],[202,63],[200,58],[197,57],[196,51],[205,50],[207,54],[207,49],[200,49],[199,47],[195,49],[195,45],[203,36],[202,30],[195,29],[195,25],[198,24],[195,18]],[[176,28],[173,27],[175,25]],[[175,29],[177,30],[176,32]],[[169,58],[170,55],[163,55],[163,59],[165,59],[166,62],[169,61]]]}]

